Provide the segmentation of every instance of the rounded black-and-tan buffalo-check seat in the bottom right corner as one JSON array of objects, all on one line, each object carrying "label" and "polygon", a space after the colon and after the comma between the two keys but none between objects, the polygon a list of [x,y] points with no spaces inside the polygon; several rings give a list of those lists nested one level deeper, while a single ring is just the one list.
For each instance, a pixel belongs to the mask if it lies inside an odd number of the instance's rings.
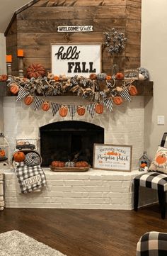
[{"label": "rounded black-and-tan buffalo-check seat in the bottom right corner", "polygon": [[167,255],[167,233],[151,231],[142,235],[137,243],[137,256]]}]

